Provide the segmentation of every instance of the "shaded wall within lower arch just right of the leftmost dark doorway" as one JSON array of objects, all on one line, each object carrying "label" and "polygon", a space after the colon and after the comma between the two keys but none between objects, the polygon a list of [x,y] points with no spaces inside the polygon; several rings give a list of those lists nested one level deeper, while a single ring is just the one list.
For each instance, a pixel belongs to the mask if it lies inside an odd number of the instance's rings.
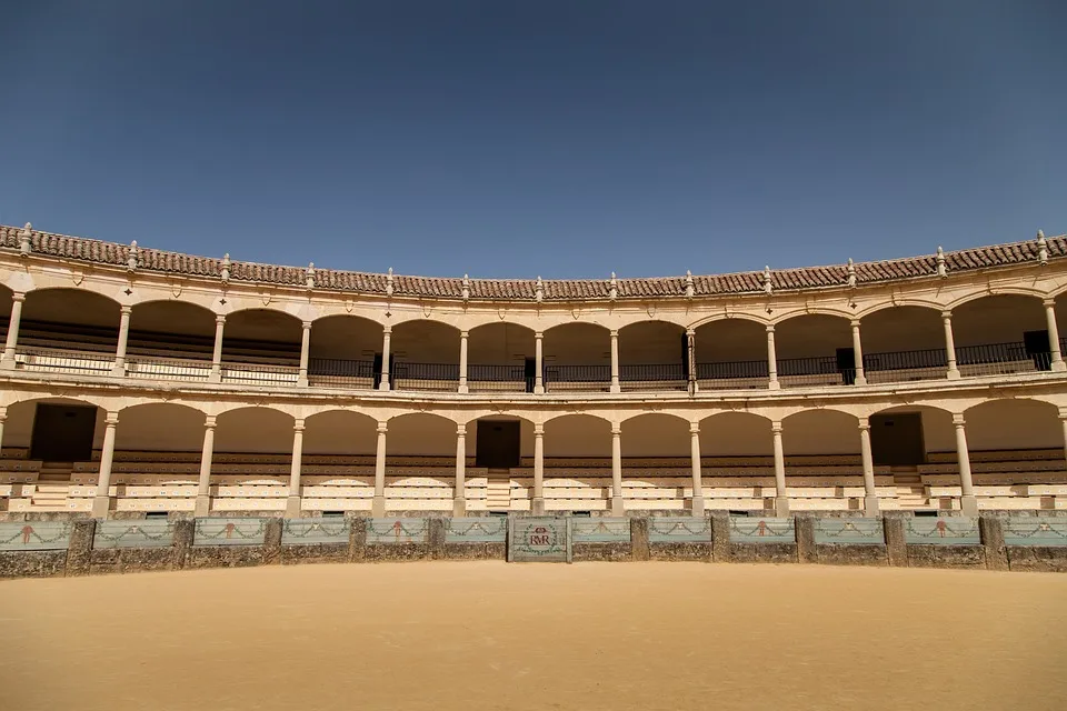
[{"label": "shaded wall within lower arch just right of the leftmost dark doorway", "polygon": [[199,452],[205,413],[188,404],[146,402],[119,411],[114,449],[149,452]]}]

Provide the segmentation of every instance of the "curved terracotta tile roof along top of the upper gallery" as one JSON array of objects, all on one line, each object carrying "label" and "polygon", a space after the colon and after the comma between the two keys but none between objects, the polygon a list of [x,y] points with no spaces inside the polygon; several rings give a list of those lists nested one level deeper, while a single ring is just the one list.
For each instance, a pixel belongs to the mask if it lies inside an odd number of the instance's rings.
[{"label": "curved terracotta tile roof along top of the upper gallery", "polygon": [[[0,247],[18,250],[21,247],[21,228],[0,226]],[[126,266],[131,247],[80,237],[52,234],[34,230],[30,240],[31,251],[94,263]],[[1067,236],[1047,239],[1049,259],[1067,257]],[[965,249],[945,253],[945,266],[949,273],[1004,267],[1038,259],[1037,240],[1027,240],[1008,244],[995,244]],[[138,247],[138,269],[189,274],[193,277],[220,278],[222,260],[210,257],[195,257],[178,252],[164,252]],[[307,270],[302,267],[281,267],[257,264],[253,262],[231,261],[230,279],[233,281],[303,286]],[[880,262],[860,262],[855,264],[857,283],[876,283],[897,279],[915,279],[937,274],[937,258],[929,254]],[[808,267],[802,269],[771,270],[771,284],[775,290],[820,289],[848,283],[848,267]],[[727,293],[754,293],[764,290],[761,271],[734,274],[694,276],[696,296]],[[537,282],[529,279],[470,279],[469,297],[476,300],[534,300],[537,298]],[[388,293],[389,277],[356,271],[316,269],[317,289],[351,291],[359,293]],[[619,299],[680,298],[686,293],[685,277],[662,277],[655,279],[616,280]],[[584,299],[608,299],[611,281],[608,279],[546,280],[541,284],[545,301],[568,301]],[[463,280],[456,278],[405,277],[392,278],[392,292],[402,297],[462,298]]]}]

